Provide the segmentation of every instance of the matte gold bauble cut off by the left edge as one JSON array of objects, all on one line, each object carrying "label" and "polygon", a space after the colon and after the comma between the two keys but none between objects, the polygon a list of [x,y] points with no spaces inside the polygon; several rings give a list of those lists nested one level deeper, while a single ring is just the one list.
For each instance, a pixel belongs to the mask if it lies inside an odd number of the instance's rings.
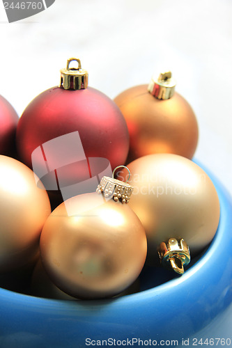
[{"label": "matte gold bauble cut off by the left edge", "polygon": [[51,212],[45,189],[31,169],[0,156],[0,272],[23,266],[38,252],[42,226]]}]

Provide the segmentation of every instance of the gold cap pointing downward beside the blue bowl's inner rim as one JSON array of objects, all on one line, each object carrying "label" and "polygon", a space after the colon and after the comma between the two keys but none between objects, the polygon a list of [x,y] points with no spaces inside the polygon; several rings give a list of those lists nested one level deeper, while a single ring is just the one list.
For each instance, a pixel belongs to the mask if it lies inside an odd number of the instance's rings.
[{"label": "gold cap pointing downward beside the blue bowl's inner rim", "polygon": [[160,244],[157,251],[162,265],[171,267],[178,274],[183,274],[183,266],[190,263],[190,248],[183,238],[169,238]]}]

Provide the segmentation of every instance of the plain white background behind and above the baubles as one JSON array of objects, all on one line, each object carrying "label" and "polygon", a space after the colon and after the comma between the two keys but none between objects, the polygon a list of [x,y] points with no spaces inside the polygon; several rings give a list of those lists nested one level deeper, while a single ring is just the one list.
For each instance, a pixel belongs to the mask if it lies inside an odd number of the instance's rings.
[{"label": "plain white background behind and above the baubles", "polygon": [[9,24],[0,7],[0,94],[21,115],[71,56],[114,98],[170,69],[199,122],[195,158],[232,193],[232,1],[56,0]]}]

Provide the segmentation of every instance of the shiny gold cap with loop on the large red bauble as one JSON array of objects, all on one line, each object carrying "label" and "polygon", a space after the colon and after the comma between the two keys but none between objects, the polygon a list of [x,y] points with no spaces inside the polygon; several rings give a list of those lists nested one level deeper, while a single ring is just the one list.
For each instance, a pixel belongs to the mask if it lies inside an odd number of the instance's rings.
[{"label": "shiny gold cap with loop on the large red bauble", "polygon": [[[78,63],[77,68],[70,68],[72,61]],[[67,66],[61,69],[61,84],[60,87],[64,89],[79,90],[88,87],[88,72],[82,69],[81,61],[77,58],[69,58]]]}]

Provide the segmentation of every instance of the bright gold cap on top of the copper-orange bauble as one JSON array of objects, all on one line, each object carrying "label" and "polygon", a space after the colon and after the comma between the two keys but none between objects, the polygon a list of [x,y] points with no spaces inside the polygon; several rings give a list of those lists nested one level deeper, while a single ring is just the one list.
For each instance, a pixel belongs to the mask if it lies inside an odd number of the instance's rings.
[{"label": "bright gold cap on top of the copper-orange bauble", "polygon": [[171,77],[171,71],[161,72],[160,76],[152,77],[148,92],[160,100],[170,99],[176,87],[176,80]]}]

